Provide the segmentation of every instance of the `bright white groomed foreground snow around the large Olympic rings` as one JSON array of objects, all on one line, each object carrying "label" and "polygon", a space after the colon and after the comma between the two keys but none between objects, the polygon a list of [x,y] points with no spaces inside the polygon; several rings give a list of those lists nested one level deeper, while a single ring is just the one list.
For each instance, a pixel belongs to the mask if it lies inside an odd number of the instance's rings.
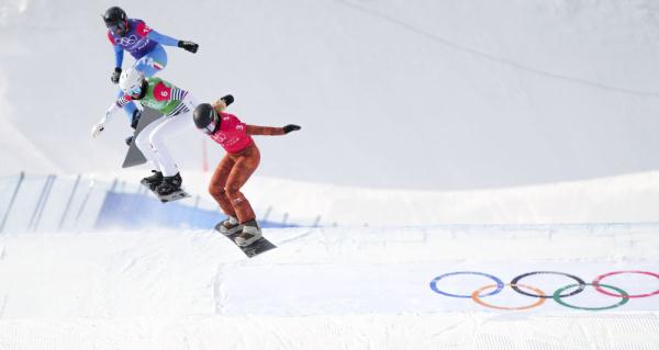
[{"label": "bright white groomed foreground snow around the large Olympic rings", "polygon": [[[0,349],[656,349],[659,296],[615,308],[469,298],[532,271],[591,282],[658,273],[659,225],[291,228],[248,260],[213,232],[4,235]],[[433,284],[433,281],[435,283]],[[523,282],[551,293],[561,275]],[[630,295],[652,275],[606,283]],[[604,284],[604,281],[602,281]],[[619,304],[588,286],[562,298]],[[482,301],[537,303],[506,287]]]}]

